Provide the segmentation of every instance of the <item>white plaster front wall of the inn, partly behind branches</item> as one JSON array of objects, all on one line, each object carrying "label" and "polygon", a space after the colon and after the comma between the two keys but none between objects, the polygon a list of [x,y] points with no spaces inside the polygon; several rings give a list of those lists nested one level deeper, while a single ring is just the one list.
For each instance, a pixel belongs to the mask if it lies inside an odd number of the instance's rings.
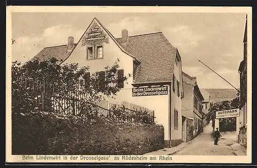
[{"label": "white plaster front wall of the inn, partly behind branches", "polygon": [[[128,77],[128,74],[133,74],[133,58],[122,52],[111,37],[109,37],[108,44],[103,44],[103,59],[86,60],[86,46],[82,47],[82,43],[80,41],[69,58],[66,59],[63,64],[78,62],[80,67],[89,66],[90,73],[94,73],[96,71],[104,71],[104,67],[106,66],[114,65],[117,58],[120,60],[119,69],[124,70],[124,75]],[[155,122],[163,125],[164,140],[169,140],[169,95],[132,97],[133,86],[131,84],[133,82],[133,78],[128,78],[126,82],[124,82],[124,88],[117,93],[115,99],[106,97],[106,100],[113,103],[127,101],[137,104],[138,106],[154,110],[156,117]]]}]

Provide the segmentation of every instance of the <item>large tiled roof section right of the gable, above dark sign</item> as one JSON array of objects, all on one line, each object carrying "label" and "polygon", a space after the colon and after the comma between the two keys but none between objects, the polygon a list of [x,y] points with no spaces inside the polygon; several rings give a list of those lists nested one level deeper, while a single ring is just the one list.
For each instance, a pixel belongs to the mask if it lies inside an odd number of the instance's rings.
[{"label": "large tiled roof section right of the gable, above dark sign", "polygon": [[125,51],[141,62],[136,83],[172,81],[177,49],[162,32],[130,36],[126,45],[116,38]]}]

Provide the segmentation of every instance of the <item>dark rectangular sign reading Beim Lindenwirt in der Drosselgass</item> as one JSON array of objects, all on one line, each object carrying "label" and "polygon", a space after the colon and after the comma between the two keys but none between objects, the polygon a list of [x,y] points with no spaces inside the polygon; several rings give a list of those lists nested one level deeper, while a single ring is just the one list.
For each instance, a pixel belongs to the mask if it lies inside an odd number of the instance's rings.
[{"label": "dark rectangular sign reading Beim Lindenwirt in der Drosselgass", "polygon": [[167,95],[168,86],[133,88],[132,96]]}]

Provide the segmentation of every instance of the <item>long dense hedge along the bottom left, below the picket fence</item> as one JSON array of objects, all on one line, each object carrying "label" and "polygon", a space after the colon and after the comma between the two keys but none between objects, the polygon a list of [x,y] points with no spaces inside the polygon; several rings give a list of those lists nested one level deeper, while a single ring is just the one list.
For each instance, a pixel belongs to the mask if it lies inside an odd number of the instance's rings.
[{"label": "long dense hedge along the bottom left, below the picket fence", "polygon": [[162,125],[46,112],[12,114],[13,155],[142,155],[162,149],[163,141]]}]

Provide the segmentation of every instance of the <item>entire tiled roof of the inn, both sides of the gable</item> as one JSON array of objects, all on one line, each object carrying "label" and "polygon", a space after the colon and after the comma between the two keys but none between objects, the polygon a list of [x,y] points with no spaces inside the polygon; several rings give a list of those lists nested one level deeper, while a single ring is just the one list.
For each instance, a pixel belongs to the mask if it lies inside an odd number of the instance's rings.
[{"label": "entire tiled roof of the inn, both sides of the gable", "polygon": [[[99,22],[97,18],[95,19]],[[121,43],[121,38],[114,38],[100,22],[99,24],[114,39],[123,52],[140,62],[136,68],[136,74],[134,74],[135,83],[172,81],[175,57],[178,51],[177,48],[169,43],[162,32],[130,36],[124,46]],[[47,47],[33,57],[32,60],[55,57],[60,59],[60,64],[62,64],[70,53],[67,53],[67,45]]]}]

